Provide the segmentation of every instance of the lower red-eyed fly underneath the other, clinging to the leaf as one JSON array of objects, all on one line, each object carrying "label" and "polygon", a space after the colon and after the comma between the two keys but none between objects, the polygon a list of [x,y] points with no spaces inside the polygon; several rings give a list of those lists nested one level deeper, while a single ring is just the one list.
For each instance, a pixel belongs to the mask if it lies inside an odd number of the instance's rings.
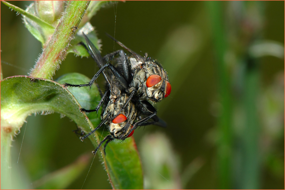
[{"label": "lower red-eyed fly underneath the other, clinging to the leaf", "polygon": [[[83,33],[84,35],[84,33]],[[97,129],[99,129],[103,124],[106,124],[109,128],[110,134],[107,135],[97,146],[97,148],[92,152],[96,154],[98,148],[106,141],[104,145],[104,152],[106,145],[113,139],[125,140],[126,138],[133,135],[134,130],[138,126],[142,125],[150,125],[155,124],[158,126],[165,127],[166,124],[164,121],[160,120],[156,115],[156,110],[154,113],[151,114],[144,114],[141,112],[141,109],[138,109],[136,102],[133,102],[129,95],[121,91],[119,87],[119,83],[112,82],[110,73],[106,70],[103,70],[102,65],[104,65],[104,59],[101,57],[99,50],[95,48],[95,46],[91,43],[91,41],[84,35],[87,45],[88,45],[88,52],[89,54],[95,59],[100,70],[102,70],[102,74],[107,81],[107,89],[102,96],[101,101],[99,102],[98,106],[94,110],[86,110],[84,108],[81,111],[84,112],[93,112],[97,111],[100,106],[103,106],[104,112],[101,115],[102,122],[89,134],[86,136],[81,137],[81,141],[86,139],[88,136],[93,134]],[[92,47],[92,48],[90,48]],[[142,103],[143,105],[143,103]],[[144,107],[147,107],[145,105]],[[152,121],[148,121],[152,118]]]}]

